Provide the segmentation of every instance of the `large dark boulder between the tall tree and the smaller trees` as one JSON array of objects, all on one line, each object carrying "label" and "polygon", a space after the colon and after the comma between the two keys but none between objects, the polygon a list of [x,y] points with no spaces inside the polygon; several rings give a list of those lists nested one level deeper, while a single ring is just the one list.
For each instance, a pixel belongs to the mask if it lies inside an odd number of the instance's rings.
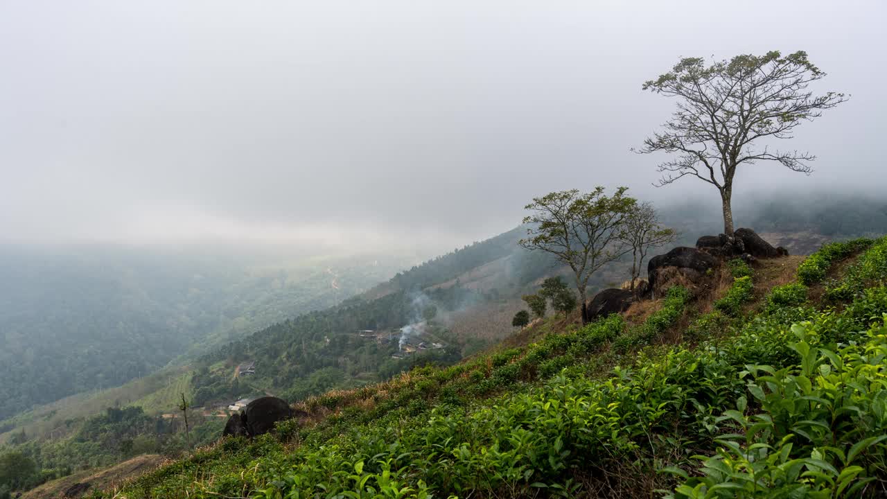
[{"label": "large dark boulder between the tall tree and the smaller trees", "polygon": [[664,255],[650,258],[647,265],[649,289],[655,297],[672,283],[699,288],[709,271],[717,265],[718,259],[701,249],[679,246]]}]

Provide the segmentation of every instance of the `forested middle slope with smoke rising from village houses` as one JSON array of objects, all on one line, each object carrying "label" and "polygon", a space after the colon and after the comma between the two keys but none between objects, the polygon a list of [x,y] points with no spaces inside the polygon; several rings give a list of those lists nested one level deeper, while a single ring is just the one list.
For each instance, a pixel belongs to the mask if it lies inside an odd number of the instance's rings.
[{"label": "forested middle slope with smoke rising from village houses", "polygon": [[[194,384],[194,400],[202,405],[225,400],[243,392],[247,383],[255,392],[273,392],[287,400],[303,398],[333,388],[347,388],[387,379],[417,364],[452,363],[477,348],[470,338],[451,333],[449,314],[481,304],[496,302],[509,289],[520,289],[546,273],[557,270],[543,255],[519,249],[521,229],[514,229],[483,242],[455,249],[408,271],[397,273],[378,290],[345,300],[333,308],[303,314],[225,345],[201,358],[204,375]],[[500,259],[508,259],[507,283],[503,289],[484,290],[459,276]],[[437,284],[449,282],[445,287]],[[428,308],[434,316],[426,321]],[[415,343],[443,345],[403,356],[401,328],[423,323]],[[357,332],[370,330],[381,341],[368,340]],[[406,341],[404,339],[404,341]],[[232,386],[231,366],[243,361],[256,365],[255,376]],[[225,368],[217,368],[224,365]],[[216,366],[209,371],[208,367]]]}]

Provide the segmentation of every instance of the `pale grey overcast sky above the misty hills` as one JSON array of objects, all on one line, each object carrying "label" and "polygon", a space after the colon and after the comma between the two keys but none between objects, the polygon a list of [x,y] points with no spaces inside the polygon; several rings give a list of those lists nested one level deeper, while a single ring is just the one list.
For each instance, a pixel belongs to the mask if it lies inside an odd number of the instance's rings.
[{"label": "pale grey overcast sky above the misty hills", "polygon": [[887,3],[0,0],[0,241],[383,248],[484,239],[554,190],[629,186],[681,57],[804,50],[812,176],[736,196],[883,192]]}]

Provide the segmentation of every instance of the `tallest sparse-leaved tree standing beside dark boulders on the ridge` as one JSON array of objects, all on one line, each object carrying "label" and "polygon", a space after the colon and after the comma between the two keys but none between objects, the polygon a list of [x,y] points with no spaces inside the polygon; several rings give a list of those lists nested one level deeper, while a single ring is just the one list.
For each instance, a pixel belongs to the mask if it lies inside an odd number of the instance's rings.
[{"label": "tallest sparse-leaved tree standing beside dark boulders on the ridge", "polygon": [[724,234],[732,237],[730,201],[741,165],[774,161],[789,170],[812,171],[807,164],[815,159],[812,154],[771,150],[761,143],[790,139],[797,125],[847,99],[843,93],[814,95],[808,90],[825,75],[804,51],[785,57],[779,51],[738,55],[710,66],[699,58],[681,59],[669,73],[643,85],[644,90],[678,99],[678,109],[638,152],[676,154],[659,165],[659,186],[692,176],[717,187]]}]

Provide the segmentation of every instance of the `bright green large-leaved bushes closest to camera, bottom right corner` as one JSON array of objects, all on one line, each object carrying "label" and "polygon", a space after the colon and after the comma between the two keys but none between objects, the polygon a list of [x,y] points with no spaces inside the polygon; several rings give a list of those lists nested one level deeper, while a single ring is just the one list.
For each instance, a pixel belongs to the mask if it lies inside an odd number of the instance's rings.
[{"label": "bright green large-leaved bushes closest to camera, bottom right corner", "polygon": [[670,497],[859,497],[887,475],[887,326],[837,349],[811,322],[791,330],[797,363],[741,373],[749,398],[718,418],[736,432],[700,457],[702,477],[675,470],[685,481]]}]

